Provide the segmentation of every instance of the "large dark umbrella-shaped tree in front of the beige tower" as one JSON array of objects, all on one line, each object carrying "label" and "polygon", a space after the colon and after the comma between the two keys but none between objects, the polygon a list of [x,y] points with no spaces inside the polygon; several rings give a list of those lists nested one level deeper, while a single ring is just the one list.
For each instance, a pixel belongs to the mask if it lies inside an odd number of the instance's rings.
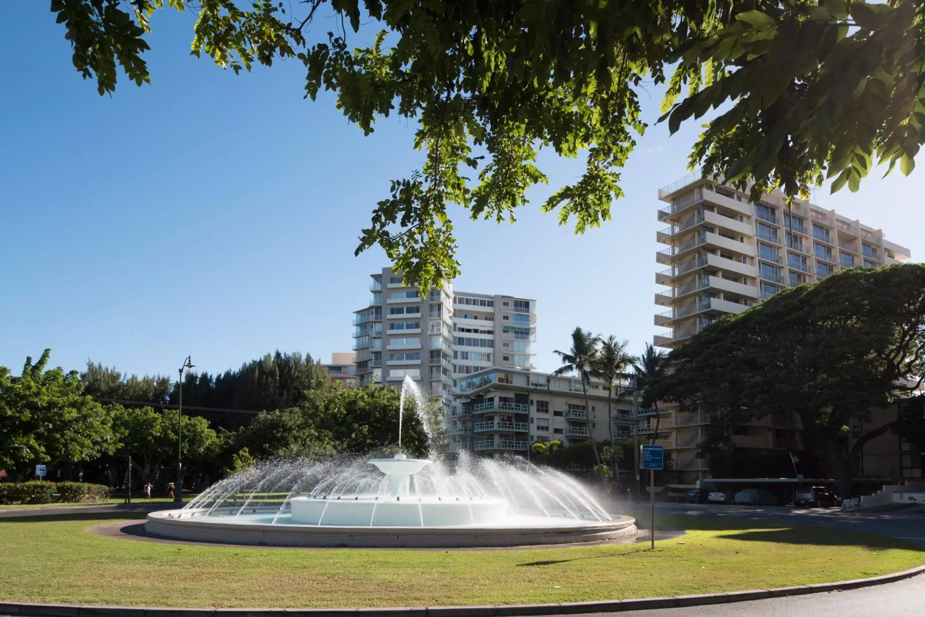
[{"label": "large dark umbrella-shaped tree in front of the beige tower", "polygon": [[925,426],[921,405],[904,405],[894,422],[848,441],[851,426],[919,389],[925,265],[854,268],[783,290],[707,327],[669,361],[660,398],[712,416],[701,454],[731,447],[736,427],[796,414],[805,447],[848,495],[866,443],[890,431],[914,438]]}]

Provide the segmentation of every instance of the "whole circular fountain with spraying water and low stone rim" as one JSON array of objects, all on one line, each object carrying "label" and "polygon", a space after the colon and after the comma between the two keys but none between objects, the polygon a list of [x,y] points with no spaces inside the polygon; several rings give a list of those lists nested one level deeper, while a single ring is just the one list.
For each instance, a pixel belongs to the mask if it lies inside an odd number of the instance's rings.
[{"label": "whole circular fountain with spraying water and low stone rim", "polygon": [[145,531],[268,546],[504,547],[629,540],[635,520],[611,516],[558,471],[460,452],[452,463],[403,454],[263,463],[182,510],[150,513]]}]

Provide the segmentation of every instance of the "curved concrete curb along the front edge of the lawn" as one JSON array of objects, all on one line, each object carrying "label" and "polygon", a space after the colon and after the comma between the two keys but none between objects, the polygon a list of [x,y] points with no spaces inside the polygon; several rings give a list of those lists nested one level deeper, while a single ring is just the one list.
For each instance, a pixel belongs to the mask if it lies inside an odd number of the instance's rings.
[{"label": "curved concrete curb along the front edge of the lawn", "polygon": [[925,573],[917,568],[851,581],[819,583],[774,589],[750,589],[719,594],[675,596],[673,598],[612,599],[557,604],[504,604],[499,606],[428,606],[368,609],[173,609],[140,606],[84,606],[76,604],[33,604],[0,602],[0,615],[29,617],[519,617],[521,615],[569,615],[589,612],[647,611],[676,609],[754,599],[801,596],[895,583]]}]

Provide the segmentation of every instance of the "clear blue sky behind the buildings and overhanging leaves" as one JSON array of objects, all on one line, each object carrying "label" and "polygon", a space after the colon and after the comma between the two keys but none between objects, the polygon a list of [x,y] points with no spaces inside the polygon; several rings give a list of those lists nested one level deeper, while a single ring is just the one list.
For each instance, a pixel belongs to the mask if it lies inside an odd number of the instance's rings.
[{"label": "clear blue sky behind the buildings and overhanging leaves", "polygon": [[[74,70],[48,3],[6,0],[0,19],[0,364],[27,355],[87,359],[170,376],[189,353],[209,372],[264,352],[329,361],[351,349],[352,311],[369,298],[378,249],[353,256],[390,179],[420,164],[413,123],[388,118],[367,138],[330,96],[302,99],[301,63],[235,76],[189,56],[193,16],[155,14],[152,84],[120,75],[101,97]],[[327,31],[319,24],[318,32]],[[650,95],[649,95],[650,94]],[[642,93],[646,117],[661,91]],[[582,162],[542,154],[549,185],[514,225],[454,222],[459,290],[537,301],[536,365],[551,370],[575,326],[653,334],[660,186],[686,175],[699,127],[650,127],[623,169],[626,196],[603,228],[575,236],[539,212]],[[922,173],[874,174],[855,194],[817,202],[925,255]],[[663,269],[663,268],[662,268]]]}]

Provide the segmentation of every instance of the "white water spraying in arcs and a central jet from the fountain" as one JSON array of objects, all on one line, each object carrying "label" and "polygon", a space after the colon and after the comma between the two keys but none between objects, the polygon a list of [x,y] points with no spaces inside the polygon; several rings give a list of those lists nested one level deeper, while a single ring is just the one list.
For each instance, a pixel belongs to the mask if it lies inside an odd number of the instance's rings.
[{"label": "white water spraying in arcs and a central jet from the fountain", "polygon": [[[425,427],[438,421],[407,379],[401,390]],[[401,415],[400,415],[401,423]],[[522,527],[604,522],[611,516],[572,477],[520,457],[438,460],[337,456],[269,461],[209,487],[184,515],[223,523]]]}]

